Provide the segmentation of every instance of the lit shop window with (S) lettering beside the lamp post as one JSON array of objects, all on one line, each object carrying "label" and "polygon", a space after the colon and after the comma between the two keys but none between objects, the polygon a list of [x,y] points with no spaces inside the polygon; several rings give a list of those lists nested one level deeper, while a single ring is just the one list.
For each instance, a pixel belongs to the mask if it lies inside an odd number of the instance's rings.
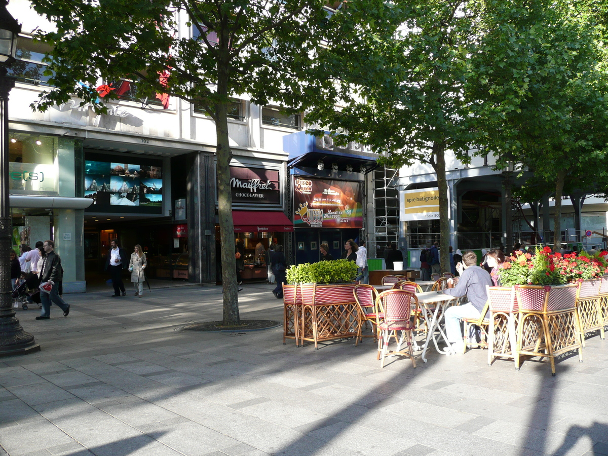
[{"label": "lit shop window with (S) lettering beside the lamp post", "polygon": [[10,193],[57,195],[57,150],[57,137],[10,133]]}]

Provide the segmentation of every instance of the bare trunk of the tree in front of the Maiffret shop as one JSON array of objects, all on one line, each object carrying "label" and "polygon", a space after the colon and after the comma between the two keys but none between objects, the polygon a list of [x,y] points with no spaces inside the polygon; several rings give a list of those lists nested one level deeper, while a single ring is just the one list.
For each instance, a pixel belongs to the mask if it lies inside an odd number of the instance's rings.
[{"label": "bare trunk of the tree in front of the Maiffret shop", "polygon": [[[226,77],[218,78],[218,95],[226,95]],[[218,212],[219,239],[221,242],[222,261],[222,291],[224,294],[224,325],[240,324],[238,313],[237,275],[234,243],[234,226],[232,222],[232,192],[230,192],[230,160],[232,151],[228,139],[228,120],[226,103],[215,106],[217,134],[217,165],[218,179]]]}]

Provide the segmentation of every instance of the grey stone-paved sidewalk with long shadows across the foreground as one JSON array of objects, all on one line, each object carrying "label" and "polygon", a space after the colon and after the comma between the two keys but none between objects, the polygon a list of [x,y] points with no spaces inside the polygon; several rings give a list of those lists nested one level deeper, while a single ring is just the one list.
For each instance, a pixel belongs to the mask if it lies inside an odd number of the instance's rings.
[{"label": "grey stone-paved sidewalk with long shadows across the foreground", "polygon": [[[243,319],[282,321],[271,285]],[[42,350],[0,358],[0,455],[608,455],[608,340],[584,362],[486,365],[487,352],[376,361],[370,338],[296,348],[282,328],[193,333],[221,288],[66,295],[50,320],[18,310]],[[130,293],[131,294],[131,293]]]}]

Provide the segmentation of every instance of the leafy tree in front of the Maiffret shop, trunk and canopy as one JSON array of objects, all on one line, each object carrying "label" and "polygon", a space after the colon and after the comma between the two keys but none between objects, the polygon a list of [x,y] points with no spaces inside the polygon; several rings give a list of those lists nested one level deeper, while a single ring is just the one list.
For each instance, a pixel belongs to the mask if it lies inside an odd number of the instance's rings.
[{"label": "leafy tree in front of the Maiffret shop, trunk and canopy", "polygon": [[[373,2],[370,2],[373,3]],[[311,103],[333,105],[334,81],[319,59],[323,40],[336,33],[323,0],[32,0],[57,26],[39,33],[51,44],[52,88],[33,108],[44,111],[76,96],[105,112],[116,97],[95,90],[106,81],[136,80],[139,93],[179,97],[204,108],[215,121],[224,325],[238,325],[237,283],[230,193],[227,107],[231,95],[249,94],[291,112]],[[342,22],[340,22],[342,21]],[[182,37],[192,26],[197,38]],[[342,30],[347,33],[348,30]],[[107,89],[107,88],[106,88]],[[106,90],[108,92],[108,90]]]}]

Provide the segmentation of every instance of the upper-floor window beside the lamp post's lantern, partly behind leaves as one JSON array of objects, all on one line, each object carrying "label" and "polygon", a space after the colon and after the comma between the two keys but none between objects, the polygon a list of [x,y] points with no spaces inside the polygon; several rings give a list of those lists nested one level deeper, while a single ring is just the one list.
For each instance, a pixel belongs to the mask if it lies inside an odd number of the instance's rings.
[{"label": "upper-floor window beside the lamp post's lantern, partly behind leaves", "polygon": [[43,63],[44,55],[50,52],[50,46],[34,41],[29,36],[19,36],[17,40],[16,61],[8,68],[9,75],[15,80],[33,85],[49,85],[54,75],[47,74],[48,67]]}]

